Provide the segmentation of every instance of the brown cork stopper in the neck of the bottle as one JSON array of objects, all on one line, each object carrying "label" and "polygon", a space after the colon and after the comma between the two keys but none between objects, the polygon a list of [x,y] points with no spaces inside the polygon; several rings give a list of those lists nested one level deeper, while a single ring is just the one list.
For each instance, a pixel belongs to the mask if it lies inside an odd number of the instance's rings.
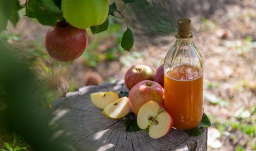
[{"label": "brown cork stopper in the neck of the bottle", "polygon": [[180,38],[191,37],[191,20],[188,18],[181,18],[178,21],[178,33],[176,35]]}]

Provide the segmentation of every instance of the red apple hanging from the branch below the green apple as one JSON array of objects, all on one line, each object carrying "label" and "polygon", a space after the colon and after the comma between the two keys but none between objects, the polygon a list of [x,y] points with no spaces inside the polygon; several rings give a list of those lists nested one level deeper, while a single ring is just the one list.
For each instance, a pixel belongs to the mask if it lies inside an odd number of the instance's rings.
[{"label": "red apple hanging from the branch below the green apple", "polygon": [[45,46],[48,54],[57,61],[73,61],[83,54],[88,37],[83,29],[72,27],[68,23],[57,22],[55,27],[48,27]]}]

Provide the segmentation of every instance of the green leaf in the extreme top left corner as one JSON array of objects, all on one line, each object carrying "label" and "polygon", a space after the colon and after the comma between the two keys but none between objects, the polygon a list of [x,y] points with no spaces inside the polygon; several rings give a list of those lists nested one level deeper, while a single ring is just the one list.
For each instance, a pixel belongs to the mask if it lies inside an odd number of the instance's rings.
[{"label": "green leaf in the extreme top left corner", "polygon": [[[18,3],[18,5],[17,5]],[[18,21],[17,11],[20,9],[18,0],[0,1],[0,32],[7,27],[8,20],[16,25]]]}]

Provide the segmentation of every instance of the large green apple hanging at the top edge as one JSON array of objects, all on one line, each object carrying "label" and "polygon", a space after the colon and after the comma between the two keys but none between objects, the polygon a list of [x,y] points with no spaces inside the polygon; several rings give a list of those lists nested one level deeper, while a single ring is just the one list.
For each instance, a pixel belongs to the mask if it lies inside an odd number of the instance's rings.
[{"label": "large green apple hanging at the top edge", "polygon": [[102,24],[108,17],[108,0],[62,0],[63,16],[72,26],[86,29]]}]

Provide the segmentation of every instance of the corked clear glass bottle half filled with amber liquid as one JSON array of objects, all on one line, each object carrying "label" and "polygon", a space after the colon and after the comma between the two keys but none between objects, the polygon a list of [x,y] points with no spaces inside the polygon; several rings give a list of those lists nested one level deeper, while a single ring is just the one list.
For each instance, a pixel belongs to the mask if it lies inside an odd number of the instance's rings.
[{"label": "corked clear glass bottle half filled with amber liquid", "polygon": [[191,21],[178,21],[176,42],[165,56],[165,107],[173,127],[196,128],[203,116],[203,59],[192,42]]}]

